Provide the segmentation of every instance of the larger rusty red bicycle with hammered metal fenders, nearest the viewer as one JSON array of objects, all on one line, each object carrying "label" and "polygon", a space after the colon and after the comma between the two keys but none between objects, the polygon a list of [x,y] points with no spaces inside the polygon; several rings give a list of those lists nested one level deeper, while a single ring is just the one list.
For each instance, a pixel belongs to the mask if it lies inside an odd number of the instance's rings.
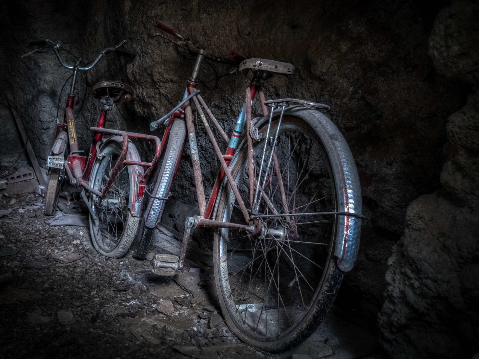
[{"label": "larger rusty red bicycle with hammered metal fenders, nearest the viewer", "polygon": [[[328,106],[290,98],[265,101],[263,82],[274,74],[293,75],[293,65],[246,59],[235,51],[229,58],[209,55],[168,25],[156,26],[196,55],[196,63],[182,101],[150,124],[152,131],[166,125],[165,149],[156,180],[147,182],[151,195],[145,201],[137,256],[148,250],[188,139],[200,215],[186,219],[180,256],[157,255],[153,270],[162,275],[181,270],[192,229],[213,228],[215,283],[229,328],[253,346],[289,348],[319,325],[344,272],[354,266],[363,216],[351,151],[320,112]],[[230,137],[196,89],[204,59],[252,72]],[[256,95],[262,115],[252,118]],[[207,202],[193,104],[221,164]],[[205,113],[228,143],[224,152]]]}]

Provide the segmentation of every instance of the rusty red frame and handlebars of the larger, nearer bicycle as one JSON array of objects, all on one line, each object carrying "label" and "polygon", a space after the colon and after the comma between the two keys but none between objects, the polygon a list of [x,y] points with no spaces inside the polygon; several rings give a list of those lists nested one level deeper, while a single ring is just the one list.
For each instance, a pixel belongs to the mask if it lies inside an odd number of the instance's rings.
[{"label": "rusty red frame and handlebars of the larger, nearer bicycle", "polygon": [[[187,218],[187,223],[185,224],[185,232],[184,232],[184,237],[183,237],[183,242],[182,242],[182,250],[181,250],[181,255],[179,259],[179,268],[181,269],[184,263],[184,257],[186,253],[186,249],[188,247],[188,241],[190,239],[190,234],[191,234],[191,229],[192,228],[228,228],[232,230],[245,230],[250,232],[251,234],[258,234],[261,231],[261,217],[252,219],[250,212],[246,208],[245,202],[241,198],[241,195],[238,191],[238,187],[231,175],[231,172],[228,169],[228,165],[233,158],[233,155],[236,152],[236,149],[239,145],[239,137],[241,133],[244,130],[244,127],[246,125],[246,136],[247,136],[247,141],[248,141],[248,167],[249,167],[249,179],[250,179],[250,203],[251,203],[251,208],[249,209],[252,211],[251,213],[255,213],[254,208],[253,208],[253,199],[257,200],[258,197],[261,197],[268,205],[269,203],[268,198],[262,193],[259,194],[259,187],[260,183],[255,183],[255,179],[253,176],[254,173],[254,165],[253,165],[253,156],[252,156],[252,138],[250,134],[250,129],[251,129],[251,103],[255,99],[255,96],[258,95],[259,101],[261,103],[262,107],[262,112],[263,116],[268,115],[268,108],[266,104],[268,101],[265,101],[264,98],[264,92],[261,87],[261,82],[258,79],[253,78],[253,80],[250,83],[250,86],[246,89],[245,93],[245,101],[243,102],[243,106],[241,109],[241,112],[239,113],[236,127],[233,130],[233,133],[231,134],[230,137],[226,134],[224,129],[221,127],[221,125],[218,123],[217,119],[211,112],[211,110],[208,108],[206,105],[205,101],[199,94],[199,90],[196,90],[196,85],[198,83],[197,77],[198,77],[198,72],[201,66],[201,63],[203,59],[206,58],[210,59],[215,62],[220,62],[220,63],[226,63],[226,64],[235,64],[237,65],[241,60],[246,59],[246,57],[239,55],[236,51],[232,50],[229,53],[230,58],[221,58],[218,56],[211,56],[211,55],[206,55],[205,51],[202,49],[196,49],[193,47],[191,42],[186,41],[185,38],[183,38],[180,34],[178,34],[176,31],[171,29],[168,25],[164,24],[163,22],[157,22],[156,26],[159,27],[161,30],[172,34],[175,36],[177,39],[182,41],[184,44],[188,46],[188,49],[191,52],[197,53],[197,58],[196,58],[196,63],[194,65],[194,70],[192,73],[192,76],[188,80],[188,84],[186,87],[186,90],[183,95],[183,101],[176,106],[170,113],[168,113],[166,116],[162,117],[160,120],[155,121],[150,123],[150,130],[153,131],[155,130],[159,124],[161,123],[167,123],[167,127],[165,129],[163,138],[161,140],[161,143],[164,144],[167,143],[167,137],[170,133],[171,126],[173,123],[174,118],[181,118],[184,119],[186,122],[186,128],[187,128],[187,137],[190,145],[190,151],[191,151],[191,158],[192,158],[192,165],[193,165],[193,173],[194,173],[194,182],[196,186],[196,196],[197,196],[197,201],[198,201],[198,207],[199,207],[199,216],[195,215],[194,217],[188,217]],[[211,144],[213,145],[213,148],[215,150],[215,153],[217,155],[217,158],[221,164],[220,171],[217,175],[217,179],[215,181],[215,184],[213,186],[213,189],[211,191],[211,194],[209,196],[208,201],[206,202],[206,197],[205,197],[205,190],[203,186],[203,175],[201,172],[201,165],[200,165],[200,160],[199,160],[199,155],[198,155],[198,146],[197,146],[197,141],[196,141],[196,133],[194,129],[194,118],[193,118],[193,111],[192,111],[192,103],[191,100],[193,100],[196,111],[199,114],[199,117],[201,118],[201,122],[203,123],[206,133],[209,137],[209,140]],[[283,105],[283,110],[285,108],[285,103],[282,103]],[[273,114],[274,108],[276,104],[272,104],[272,111],[270,112],[271,115]],[[205,111],[203,111],[205,110]],[[208,115],[209,119],[211,122],[214,123],[216,126],[218,132],[221,134],[221,137],[228,142],[228,147],[223,154],[223,152],[220,150],[217,139],[215,135],[213,134],[213,131],[210,127],[210,124],[208,120],[206,119],[205,112]],[[282,116],[282,114],[281,114]],[[271,118],[270,118],[271,122]],[[277,134],[276,134],[277,137]],[[186,138],[185,138],[186,141]],[[276,139],[275,139],[276,141]],[[184,146],[184,144],[183,144]],[[263,155],[264,156],[264,155]],[[278,178],[281,178],[281,173],[280,173],[280,168],[278,165],[278,159],[276,157],[276,153],[273,151],[273,167],[276,173],[278,174]],[[270,160],[271,163],[271,160]],[[269,166],[268,166],[269,169]],[[273,168],[272,168],[273,170]],[[173,174],[173,180],[178,171],[178,166],[174,169],[174,174]],[[260,170],[261,172],[261,170]],[[266,175],[267,176],[267,175]],[[221,221],[216,221],[211,219],[211,215],[213,213],[215,203],[217,201],[217,195],[220,189],[220,186],[225,179],[225,177],[228,179],[228,182],[231,186],[231,189],[236,196],[236,200],[238,201],[239,208],[241,210],[241,213],[244,217],[244,224],[237,224],[237,223],[229,223],[229,222],[221,222]],[[280,181],[280,193],[281,193],[281,198],[282,198],[282,208],[287,208],[288,204],[286,201],[286,196],[285,196],[285,191],[283,187],[283,183]],[[256,194],[254,194],[254,188],[256,185]],[[264,183],[262,185],[264,187]],[[253,197],[254,195],[254,197]],[[273,207],[274,209],[274,207]],[[287,209],[286,209],[287,211]],[[274,210],[274,213],[278,214],[277,211]],[[257,214],[257,211],[256,211]],[[145,213],[147,216],[148,213]],[[159,221],[159,219],[157,220]]]}]

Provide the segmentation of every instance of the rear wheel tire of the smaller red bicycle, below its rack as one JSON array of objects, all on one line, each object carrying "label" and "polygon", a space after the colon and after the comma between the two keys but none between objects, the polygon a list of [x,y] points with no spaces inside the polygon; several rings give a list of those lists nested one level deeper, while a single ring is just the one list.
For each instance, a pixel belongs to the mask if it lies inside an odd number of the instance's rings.
[{"label": "rear wheel tire of the smaller red bicycle, below its rack", "polygon": [[[120,156],[122,148],[123,146],[114,140],[111,140],[102,146],[102,158],[95,158],[92,167],[93,169],[91,171],[90,183],[94,189],[99,191],[102,190],[102,185],[104,185],[104,182],[109,178],[109,173],[106,175],[105,173],[114,167],[114,165],[112,166],[112,163],[115,163],[114,161]],[[135,152],[137,158],[139,158],[137,149],[133,144],[129,144],[128,151]],[[110,187],[110,190],[108,191],[106,197],[102,200],[102,203],[106,204],[100,204],[100,206],[96,206],[94,204],[95,195],[91,194],[90,197],[89,205],[99,218],[99,224],[96,225],[91,215],[89,216],[91,241],[93,243],[93,247],[95,247],[99,253],[110,258],[121,258],[126,254],[133,243],[133,240],[135,239],[138,224],[140,222],[140,218],[134,217],[127,208],[130,195],[129,189],[131,188],[131,177],[127,174],[127,168],[128,166],[124,166],[118,172],[114,182],[112,183],[112,186]],[[117,181],[118,184],[115,184]],[[124,191],[120,190],[122,188],[127,188],[128,193],[122,194],[125,193]],[[117,198],[120,199],[118,200]],[[113,201],[117,201],[116,207]],[[112,211],[109,213],[108,211],[110,208]],[[118,211],[120,211],[119,214]],[[113,212],[115,212],[114,224],[111,220]],[[117,220],[121,220],[121,224],[119,224]],[[118,235],[118,231],[115,232],[115,229],[118,227],[121,231],[120,235]]]}]

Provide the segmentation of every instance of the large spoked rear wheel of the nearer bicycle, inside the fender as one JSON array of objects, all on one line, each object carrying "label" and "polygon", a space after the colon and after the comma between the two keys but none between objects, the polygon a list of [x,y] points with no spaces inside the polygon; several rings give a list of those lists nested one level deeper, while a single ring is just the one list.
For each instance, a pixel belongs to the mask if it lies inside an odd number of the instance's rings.
[{"label": "large spoked rear wheel of the nearer bicycle, inside the fender", "polygon": [[[316,116],[329,121],[319,112]],[[336,141],[347,148],[342,135],[334,125],[332,128]],[[277,129],[278,119],[271,123],[270,134],[274,136]],[[259,129],[260,135],[266,132],[267,122]],[[247,208],[252,208],[245,142],[229,168]],[[272,150],[269,142],[261,140],[253,146],[256,183],[263,150],[264,177]],[[305,214],[338,212],[340,208],[331,166],[343,165],[329,156],[337,150],[327,148],[330,145],[323,143],[302,118],[285,115],[278,131],[277,162],[274,165],[272,161],[260,197],[257,214],[262,216],[262,231],[251,235],[218,229],[215,233],[219,303],[232,332],[252,346],[281,351],[296,345],[316,329],[336,297],[343,272],[333,252],[337,227],[343,224],[335,215]],[[258,196],[260,193],[261,188]],[[281,213],[290,215],[275,216]],[[220,189],[215,218],[244,223],[226,181]]]}]

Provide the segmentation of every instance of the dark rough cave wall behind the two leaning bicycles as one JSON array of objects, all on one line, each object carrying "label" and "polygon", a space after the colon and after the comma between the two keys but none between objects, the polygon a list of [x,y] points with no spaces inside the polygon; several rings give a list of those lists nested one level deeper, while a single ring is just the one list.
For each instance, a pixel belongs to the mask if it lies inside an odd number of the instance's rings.
[{"label": "dark rough cave wall behind the two leaning bicycles", "polygon": [[[179,101],[193,58],[155,35],[156,19],[170,22],[219,55],[237,49],[247,56],[293,63],[297,74],[272,79],[265,92],[268,98],[288,95],[329,104],[328,116],[351,146],[367,220],[357,266],[346,275],[338,303],[374,323],[383,303],[387,259],[403,235],[406,208],[420,195],[441,187],[446,120],[464,105],[470,89],[438,72],[428,56],[433,21],[445,5],[331,0],[314,6],[309,1],[236,0],[3,2],[0,21],[6,45],[0,56],[6,66],[1,85],[11,91],[23,119],[31,123],[28,133],[44,163],[58,95],[69,73],[51,52],[20,59],[29,51],[23,45],[28,39],[61,40],[88,61],[123,39],[125,49],[137,53],[133,61],[110,54],[86,77],[80,75],[77,128],[84,139],[89,138],[87,129],[98,112],[91,87],[100,80],[124,80],[136,91],[134,101],[114,109],[110,127],[148,132],[148,123]],[[216,67],[220,74],[229,69]],[[207,68],[203,77],[213,77]],[[229,76],[208,98],[227,130],[247,85],[244,77]],[[2,123],[11,121],[4,112],[0,115]],[[206,137],[201,128],[198,135]],[[0,146],[10,144],[8,140]],[[85,144],[84,140],[83,148]],[[200,148],[207,163],[202,169],[208,193],[218,166],[211,146],[200,140]],[[186,149],[185,158],[188,153]],[[11,154],[2,163],[9,158]],[[178,203],[194,204],[188,162],[182,163],[172,192]],[[173,207],[170,204],[171,212]]]}]

